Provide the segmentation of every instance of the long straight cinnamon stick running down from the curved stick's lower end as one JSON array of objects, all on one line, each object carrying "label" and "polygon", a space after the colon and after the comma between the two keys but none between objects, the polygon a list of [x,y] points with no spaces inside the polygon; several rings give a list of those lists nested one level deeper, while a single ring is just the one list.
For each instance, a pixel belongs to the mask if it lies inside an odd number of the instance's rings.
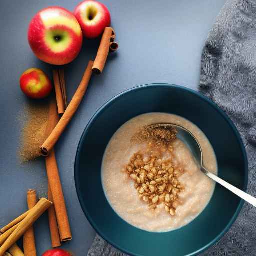
[{"label": "long straight cinnamon stick running down from the curved stick's lower end", "polygon": [[49,155],[45,158],[45,162],[49,186],[52,193],[53,203],[56,211],[60,240],[71,240],[72,235],[67,216],[63,190],[60,183],[60,177],[54,149],[52,149]]}]

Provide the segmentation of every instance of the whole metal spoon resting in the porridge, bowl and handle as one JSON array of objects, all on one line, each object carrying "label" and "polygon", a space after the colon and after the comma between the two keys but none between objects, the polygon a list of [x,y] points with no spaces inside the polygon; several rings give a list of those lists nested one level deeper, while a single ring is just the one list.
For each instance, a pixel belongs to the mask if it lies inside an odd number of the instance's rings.
[{"label": "whole metal spoon resting in the porridge, bowl and handle", "polygon": [[172,123],[157,123],[157,124],[151,124],[148,125],[151,128],[165,128],[165,129],[171,129],[171,128],[176,128],[178,133],[177,137],[181,138],[183,142],[186,143],[186,145],[189,147],[191,153],[193,154],[195,160],[197,161],[200,170],[209,178],[213,179],[220,185],[224,186],[243,200],[247,201],[248,203],[252,204],[254,207],[256,207],[256,198],[245,193],[244,191],[238,189],[237,187],[229,184],[228,182],[224,181],[220,177],[216,176],[215,174],[211,173],[208,171],[204,166],[203,166],[203,154],[202,154],[202,149],[201,146],[198,142],[198,140],[194,137],[194,135],[187,130],[186,128],[179,126],[177,124],[172,124]]}]

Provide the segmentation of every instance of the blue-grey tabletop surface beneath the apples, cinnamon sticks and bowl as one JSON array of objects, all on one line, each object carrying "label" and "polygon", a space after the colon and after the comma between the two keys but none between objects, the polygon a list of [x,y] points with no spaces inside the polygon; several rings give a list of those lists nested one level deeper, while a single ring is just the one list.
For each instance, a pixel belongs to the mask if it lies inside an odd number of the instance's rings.
[{"label": "blue-grey tabletop surface beneath the apples, cinnamon sticks and bowl", "polygon": [[[73,10],[79,0],[1,0],[0,2],[0,226],[26,209],[26,190],[47,191],[44,160],[22,164],[18,145],[26,98],[19,76],[27,68],[52,66],[33,55],[27,27],[41,8],[60,5]],[[112,15],[118,52],[108,58],[100,76],[90,82],[84,100],[55,150],[66,198],[73,240],[63,248],[87,253],[95,232],[80,208],[74,186],[74,158],[81,133],[94,112],[117,93],[146,83],[172,83],[197,89],[200,56],[214,18],[225,0],[102,0]],[[71,99],[99,40],[84,40],[80,55],[65,67]],[[93,195],[91,195],[93,196]],[[95,198],[96,200],[96,198]],[[99,205],[100,208],[100,205]],[[50,248],[47,215],[35,223],[38,255]]]}]

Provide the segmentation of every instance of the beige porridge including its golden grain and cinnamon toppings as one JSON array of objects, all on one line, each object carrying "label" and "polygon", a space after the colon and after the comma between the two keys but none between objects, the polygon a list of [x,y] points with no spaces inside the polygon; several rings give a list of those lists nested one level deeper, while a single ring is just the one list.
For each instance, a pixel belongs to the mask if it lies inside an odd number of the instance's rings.
[{"label": "beige porridge including its golden grain and cinnamon toppings", "polygon": [[124,123],[112,136],[102,162],[102,183],[115,212],[138,228],[164,232],[192,221],[209,202],[214,182],[195,163],[174,123],[199,141],[205,167],[217,173],[214,151],[202,131],[173,114],[147,113]]}]

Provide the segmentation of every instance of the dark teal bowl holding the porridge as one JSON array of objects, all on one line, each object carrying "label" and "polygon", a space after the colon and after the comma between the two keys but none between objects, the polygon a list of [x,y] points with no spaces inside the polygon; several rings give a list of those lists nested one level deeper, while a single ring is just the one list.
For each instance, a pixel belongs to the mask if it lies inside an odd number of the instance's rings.
[{"label": "dark teal bowl holding the porridge", "polygon": [[198,92],[170,84],[148,84],[120,93],[104,104],[86,126],[75,158],[75,184],[81,207],[96,232],[134,256],[197,255],[230,228],[243,200],[216,185],[206,208],[189,224],[169,232],[148,232],[128,224],[108,203],[101,183],[101,162],[108,141],[126,121],[139,114],[166,112],[196,124],[208,137],[218,175],[246,190],[247,157],[241,137],[227,115]]}]

